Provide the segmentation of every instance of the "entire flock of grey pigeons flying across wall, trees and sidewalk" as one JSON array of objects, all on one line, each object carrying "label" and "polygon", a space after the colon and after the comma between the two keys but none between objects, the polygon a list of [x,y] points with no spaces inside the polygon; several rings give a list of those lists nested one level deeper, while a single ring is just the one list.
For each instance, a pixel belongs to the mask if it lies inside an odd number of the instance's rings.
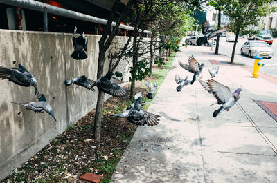
[{"label": "entire flock of grey pigeons flying across wall, trees and sidewalk", "polygon": [[[208,38],[215,37],[220,32],[224,32],[228,30],[229,28],[224,27],[219,30],[213,30],[211,26],[209,25],[208,21],[205,21],[202,25],[202,32],[204,34],[204,38],[202,39],[205,41]],[[84,37],[84,32],[80,33],[79,37],[75,37],[75,33],[77,31],[77,28],[75,28],[73,33],[73,47],[74,52],[71,54],[71,57],[74,59],[86,59],[87,54],[84,51],[87,51],[87,37]],[[201,37],[200,37],[201,38]],[[199,39],[199,42],[202,41],[202,39]],[[198,40],[197,40],[198,41]],[[195,57],[191,56],[188,59],[188,64],[184,64],[181,61],[179,61],[179,65],[184,68],[185,70],[188,70],[189,72],[193,73],[193,79],[190,81],[188,80],[188,77],[185,79],[182,79],[179,75],[175,75],[175,81],[179,86],[177,87],[177,91],[180,92],[182,88],[188,84],[193,84],[197,77],[202,73],[202,70],[204,68],[204,64],[199,64],[199,62],[195,59]],[[14,61],[13,64],[18,64],[18,68],[6,68],[3,66],[0,66],[0,78],[1,79],[8,79],[9,81],[12,81],[15,84],[18,84],[20,86],[33,86],[35,88],[35,95],[37,95],[37,102],[27,102],[27,103],[15,103],[12,102],[12,104],[18,104],[19,106],[25,107],[27,110],[33,110],[35,113],[48,113],[51,115],[55,121],[55,115],[53,113],[53,110],[51,106],[46,102],[46,97],[44,94],[39,94],[39,90],[37,87],[37,80],[35,77],[26,70],[23,64],[17,63]],[[209,69],[209,73],[211,74],[211,77],[215,77],[215,75],[218,73],[219,67],[213,67],[211,70]],[[76,84],[79,86],[83,86],[84,88],[87,88],[88,90],[95,91],[94,86],[98,88],[98,90],[101,90],[104,93],[107,93],[109,95],[115,96],[115,97],[123,97],[127,94],[127,91],[119,86],[118,84],[123,83],[122,81],[119,81],[115,77],[112,77],[114,73],[109,72],[107,75],[100,77],[96,81],[93,81],[91,79],[88,79],[85,75],[82,75],[80,77],[75,77],[70,80],[66,80],[64,83],[66,86],[70,86],[71,84]],[[234,93],[231,93],[230,89],[227,86],[224,86],[223,84],[220,84],[219,82],[208,79],[208,81],[202,81],[202,77],[199,77],[197,79],[200,84],[205,88],[205,90],[208,91],[208,93],[213,94],[213,96],[217,99],[217,104],[222,104],[218,110],[215,110],[213,113],[213,117],[216,117],[219,115],[223,110],[229,110],[235,102],[238,101],[240,91],[241,89],[238,88],[235,90]],[[153,94],[155,90],[157,89],[157,84],[152,84],[149,81],[145,81],[145,85],[148,87],[149,93],[146,95],[149,99],[153,98]],[[141,92],[136,93],[134,95],[133,102],[131,106],[128,106],[125,111],[119,114],[114,114],[111,116],[115,117],[125,117],[129,122],[137,125],[145,125],[153,126],[156,124],[159,124],[159,115],[155,115],[152,113],[149,113],[145,110],[141,109],[141,106],[143,106],[145,103],[141,101],[142,94]],[[215,104],[215,103],[214,103]]]}]

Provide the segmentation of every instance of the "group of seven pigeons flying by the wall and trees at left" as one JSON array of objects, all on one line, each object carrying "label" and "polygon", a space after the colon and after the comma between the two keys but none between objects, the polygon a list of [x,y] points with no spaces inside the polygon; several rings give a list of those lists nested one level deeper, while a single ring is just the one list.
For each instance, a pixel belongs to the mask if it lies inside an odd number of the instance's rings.
[{"label": "group of seven pigeons flying by the wall and trees at left", "polygon": [[[74,59],[86,59],[87,54],[84,51],[87,51],[87,37],[84,37],[84,32],[80,34],[79,37],[75,38],[75,32],[77,28],[74,30],[73,34],[73,47],[74,52],[71,54],[71,57]],[[37,86],[37,80],[35,77],[26,70],[23,64],[17,63],[16,61],[13,62],[13,64],[18,64],[18,68],[6,68],[3,66],[0,66],[0,78],[1,79],[8,79],[9,81],[18,84],[20,86],[33,86],[35,88],[35,95],[37,95],[37,102],[26,102],[26,103],[16,103],[11,102],[12,104],[18,104],[21,107],[25,107],[27,110],[33,110],[35,113],[48,113],[57,121],[55,118],[55,115],[53,113],[53,110],[51,106],[46,102],[46,97],[44,94],[39,94],[38,86]],[[97,87],[98,90],[101,90],[104,93],[107,93],[109,95],[115,96],[115,97],[123,97],[127,95],[127,91],[119,86],[118,84],[123,83],[123,81],[120,81],[116,79],[115,77],[112,77],[114,73],[109,72],[107,75],[100,77],[100,79],[97,79],[96,81],[93,81],[91,79],[88,79],[85,75],[82,75],[80,77],[75,77],[70,80],[66,80],[64,83],[66,86],[70,86],[71,84],[76,84],[79,86],[83,86],[84,88],[87,88],[88,90],[95,91],[93,87]],[[145,81],[145,85],[149,89],[149,93],[146,95],[149,99],[153,98],[153,94],[155,90],[157,89],[157,84],[151,84],[149,81]],[[131,106],[127,107],[127,110],[123,111],[123,113],[116,114],[113,116],[116,117],[125,117],[129,122],[133,124],[138,125],[145,125],[148,124],[148,126],[153,126],[155,124],[158,124],[159,115],[154,115],[152,113],[148,113],[145,110],[141,109],[141,106],[144,105],[143,102],[141,102],[141,93],[137,93],[134,96],[134,101]]]}]

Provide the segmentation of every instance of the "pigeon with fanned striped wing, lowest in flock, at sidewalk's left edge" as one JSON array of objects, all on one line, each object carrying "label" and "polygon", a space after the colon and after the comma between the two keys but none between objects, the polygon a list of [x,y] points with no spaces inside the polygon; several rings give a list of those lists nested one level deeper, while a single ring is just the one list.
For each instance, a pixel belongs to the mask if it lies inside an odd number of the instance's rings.
[{"label": "pigeon with fanned striped wing, lowest in flock, at sidewalk's left edge", "polygon": [[123,113],[114,114],[111,116],[115,117],[125,117],[128,122],[132,124],[137,124],[139,126],[144,126],[147,124],[148,126],[154,126],[159,124],[159,115],[154,115],[145,110],[141,109],[141,105],[139,104],[139,98],[141,97],[141,93],[134,96],[134,103],[127,108],[127,110],[123,111]]}]

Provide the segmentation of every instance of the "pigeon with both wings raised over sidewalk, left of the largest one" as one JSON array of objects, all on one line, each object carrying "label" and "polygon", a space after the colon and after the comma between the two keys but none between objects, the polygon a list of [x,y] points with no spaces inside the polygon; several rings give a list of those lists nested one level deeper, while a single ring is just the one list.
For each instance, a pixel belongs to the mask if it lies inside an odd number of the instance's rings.
[{"label": "pigeon with both wings raised over sidewalk, left of the largest one", "polygon": [[188,59],[188,64],[184,64],[181,61],[179,61],[179,65],[190,71],[190,73],[193,73],[193,80],[190,82],[190,84],[193,84],[195,82],[195,79],[197,77],[199,77],[199,75],[201,74],[203,68],[204,68],[204,63],[202,63],[201,65],[199,64],[199,62],[195,59],[195,57],[190,56]]}]

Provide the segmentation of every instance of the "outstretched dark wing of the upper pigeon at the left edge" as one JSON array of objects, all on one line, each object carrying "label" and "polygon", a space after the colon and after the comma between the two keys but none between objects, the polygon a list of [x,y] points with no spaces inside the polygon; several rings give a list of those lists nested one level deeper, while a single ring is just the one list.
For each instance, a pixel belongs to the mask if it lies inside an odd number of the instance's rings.
[{"label": "outstretched dark wing of the upper pigeon at the left edge", "polygon": [[13,68],[6,68],[0,66],[0,77],[1,79],[8,79],[9,81],[14,82],[20,86],[30,86],[31,79],[30,73],[21,73],[19,70]]}]

